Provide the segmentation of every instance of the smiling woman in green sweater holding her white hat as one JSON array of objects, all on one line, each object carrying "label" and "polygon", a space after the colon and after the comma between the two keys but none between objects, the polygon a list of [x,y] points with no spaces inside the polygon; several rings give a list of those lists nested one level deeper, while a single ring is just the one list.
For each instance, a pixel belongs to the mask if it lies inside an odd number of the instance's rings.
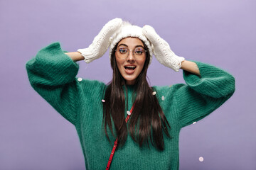
[{"label": "smiling woman in green sweater holding her white hat", "polygon": [[[77,61],[92,62],[108,47],[110,84],[75,79]],[[150,87],[146,71],[153,53],[164,66],[183,69],[186,84]],[[86,169],[110,169],[110,164],[111,169],[178,169],[181,128],[213,112],[235,91],[227,72],[186,61],[151,26],[119,18],[108,22],[89,47],[64,53],[55,42],[26,67],[38,94],[75,125]]]}]

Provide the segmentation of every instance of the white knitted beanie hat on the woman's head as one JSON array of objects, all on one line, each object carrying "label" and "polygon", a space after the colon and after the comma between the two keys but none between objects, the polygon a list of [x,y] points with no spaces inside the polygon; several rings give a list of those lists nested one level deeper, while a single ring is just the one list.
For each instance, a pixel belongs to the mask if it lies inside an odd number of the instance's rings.
[{"label": "white knitted beanie hat on the woman's head", "polygon": [[142,33],[142,28],[139,26],[132,26],[131,23],[123,21],[122,26],[114,33],[114,35],[110,38],[110,60],[111,60],[111,53],[115,45],[122,40],[123,38],[127,37],[133,37],[133,38],[139,38],[142,40],[146,47],[149,49],[149,64],[152,60],[152,48],[151,42],[146,38],[146,36]]}]

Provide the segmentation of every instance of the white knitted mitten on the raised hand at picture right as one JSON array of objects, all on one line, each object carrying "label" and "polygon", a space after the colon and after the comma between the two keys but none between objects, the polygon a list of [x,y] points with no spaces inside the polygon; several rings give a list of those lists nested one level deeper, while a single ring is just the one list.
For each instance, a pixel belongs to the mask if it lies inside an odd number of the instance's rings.
[{"label": "white knitted mitten on the raised hand at picture right", "polygon": [[181,62],[185,59],[183,57],[178,57],[171,51],[171,48],[164,39],[162,39],[151,26],[144,26],[142,28],[142,33],[149,39],[152,43],[153,53],[161,64],[171,69],[175,72],[181,68]]}]

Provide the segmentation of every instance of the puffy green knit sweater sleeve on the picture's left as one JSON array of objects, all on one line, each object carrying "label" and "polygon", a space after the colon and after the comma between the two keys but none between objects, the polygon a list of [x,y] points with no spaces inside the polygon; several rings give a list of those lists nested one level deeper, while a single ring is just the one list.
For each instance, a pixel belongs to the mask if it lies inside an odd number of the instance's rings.
[{"label": "puffy green knit sweater sleeve on the picture's left", "polygon": [[75,124],[78,105],[78,64],[65,55],[59,42],[44,47],[26,63],[33,89],[58,113]]}]

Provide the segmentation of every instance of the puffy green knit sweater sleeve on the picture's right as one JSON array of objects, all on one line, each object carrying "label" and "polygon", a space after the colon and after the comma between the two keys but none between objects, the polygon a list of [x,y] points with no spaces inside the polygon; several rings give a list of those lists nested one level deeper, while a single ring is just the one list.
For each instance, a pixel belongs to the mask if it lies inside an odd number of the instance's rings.
[{"label": "puffy green knit sweater sleeve on the picture's right", "polygon": [[196,62],[201,77],[183,71],[185,84],[174,94],[178,103],[178,121],[182,127],[201,120],[220,107],[235,91],[235,78],[222,69]]}]

